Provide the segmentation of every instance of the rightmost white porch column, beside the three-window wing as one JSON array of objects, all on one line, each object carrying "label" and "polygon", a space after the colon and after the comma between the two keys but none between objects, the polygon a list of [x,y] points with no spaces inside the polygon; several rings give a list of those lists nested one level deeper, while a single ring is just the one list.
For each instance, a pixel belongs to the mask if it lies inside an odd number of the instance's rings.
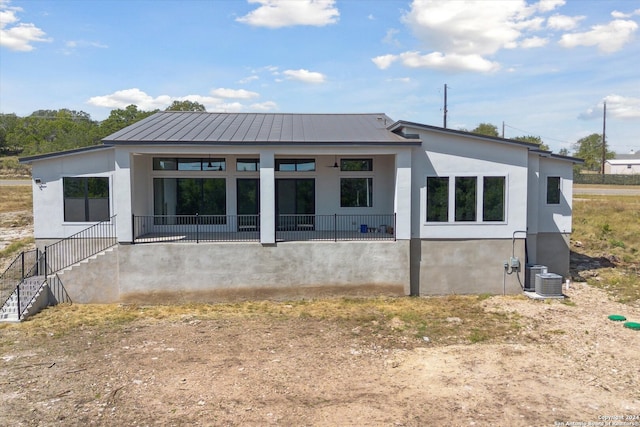
[{"label": "rightmost white porch column, beside the three-window wing", "polygon": [[396,238],[411,239],[411,149],[396,154]]}]

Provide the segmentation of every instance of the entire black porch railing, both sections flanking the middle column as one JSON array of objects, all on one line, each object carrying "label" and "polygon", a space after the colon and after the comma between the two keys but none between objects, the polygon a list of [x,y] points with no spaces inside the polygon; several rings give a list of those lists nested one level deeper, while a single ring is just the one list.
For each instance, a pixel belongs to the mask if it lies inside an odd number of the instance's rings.
[{"label": "entire black porch railing, both sections flanking the middle column", "polygon": [[[395,240],[395,214],[279,215],[278,241]],[[133,242],[258,242],[259,215],[133,215]]]}]

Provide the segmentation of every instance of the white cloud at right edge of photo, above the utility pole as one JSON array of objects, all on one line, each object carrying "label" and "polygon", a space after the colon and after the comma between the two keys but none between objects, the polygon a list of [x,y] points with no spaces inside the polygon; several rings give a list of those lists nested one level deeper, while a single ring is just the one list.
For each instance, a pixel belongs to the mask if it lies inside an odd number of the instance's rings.
[{"label": "white cloud at right edge of photo, above the utility pole", "polygon": [[583,33],[563,34],[558,43],[566,48],[597,46],[600,52],[612,53],[630,42],[637,29],[638,24],[634,21],[616,19],[606,25],[594,25]]}]

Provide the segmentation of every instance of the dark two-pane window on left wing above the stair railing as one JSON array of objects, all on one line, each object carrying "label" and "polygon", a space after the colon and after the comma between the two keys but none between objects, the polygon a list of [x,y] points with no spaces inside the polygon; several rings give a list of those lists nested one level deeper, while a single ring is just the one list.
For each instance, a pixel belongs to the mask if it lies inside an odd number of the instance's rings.
[{"label": "dark two-pane window on left wing above the stair railing", "polygon": [[64,220],[93,222],[109,220],[109,178],[87,177],[62,180]]}]

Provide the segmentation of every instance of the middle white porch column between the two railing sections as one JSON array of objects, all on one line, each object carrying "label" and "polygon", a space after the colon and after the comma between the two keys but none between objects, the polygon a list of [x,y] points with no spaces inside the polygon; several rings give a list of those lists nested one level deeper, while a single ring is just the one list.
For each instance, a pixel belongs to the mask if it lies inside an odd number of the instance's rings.
[{"label": "middle white porch column between the two railing sections", "polygon": [[276,180],[273,151],[260,151],[260,243],[276,242]]}]

